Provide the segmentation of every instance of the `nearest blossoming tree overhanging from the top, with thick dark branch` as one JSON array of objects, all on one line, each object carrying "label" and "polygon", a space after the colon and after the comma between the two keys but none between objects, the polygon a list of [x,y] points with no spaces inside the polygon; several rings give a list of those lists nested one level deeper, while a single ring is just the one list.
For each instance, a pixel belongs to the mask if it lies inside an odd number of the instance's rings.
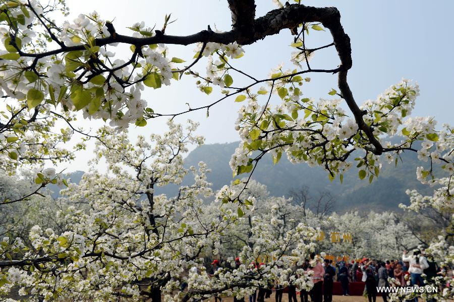
[{"label": "nearest blossoming tree overhanging from the top, with thick dark branch", "polygon": [[[342,182],[355,150],[363,151],[356,158],[358,176],[370,182],[379,174],[383,154],[393,161],[405,151],[440,161],[452,174],[452,130],[446,127],[437,131],[431,117],[410,117],[418,85],[403,80],[375,101],[359,106],[347,81],[353,64],[350,38],[337,9],[307,7],[299,2],[276,4],[278,9],[256,18],[253,0],[229,0],[231,30],[208,27],[188,36],[173,36],[165,33],[167,26],[173,26],[169,16],[159,30],[138,22],[127,29],[131,35],[124,35],[124,29],[117,32],[115,24],[95,12],[57,24],[52,16],[67,13],[64,1],[46,6],[35,0],[2,1],[0,24],[5,50],[0,54],[0,84],[8,104],[1,124],[2,162],[14,168],[21,160],[70,158],[72,152],[56,148],[56,143],[68,140],[74,131],[80,132],[71,124],[77,111],[84,118],[105,120],[122,131],[130,124],[145,126],[147,120],[160,116],[175,117],[194,110],[206,110],[208,115],[215,104],[235,100],[247,103],[240,108],[236,123],[242,139],[230,162],[236,174],[253,172],[263,155],[271,152],[276,163],[285,154],[292,162],[321,165],[331,179],[338,176]],[[261,43],[282,30],[291,30],[294,35],[289,41],[295,50],[290,56],[293,70],[278,66],[269,77],[258,78],[235,68],[235,60],[246,58],[246,45]],[[307,48],[308,34],[323,31],[329,31],[332,43]],[[117,57],[113,50],[118,44],[130,45],[131,56]],[[188,58],[172,56],[172,45],[189,44],[197,45],[190,64],[185,64]],[[339,65],[332,69],[312,67],[311,57],[328,47],[337,51]],[[196,70],[203,61],[206,75]],[[329,91],[332,98],[315,101],[301,96],[312,73],[337,76],[338,88]],[[196,78],[202,92],[210,94],[219,89],[224,96],[206,106],[175,113],[156,112],[141,97],[145,86],[159,89],[162,84],[176,85],[188,76]],[[246,77],[249,83],[236,87],[237,76]],[[274,95],[281,104],[272,108],[269,101]],[[344,102],[348,111],[342,108]],[[55,119],[64,119],[70,125],[69,130],[62,131],[64,137],[51,131]],[[384,135],[398,133],[404,137],[401,143],[386,143]],[[27,139],[30,137],[33,142]],[[88,134],[87,138],[91,137],[97,136]],[[415,146],[417,141],[423,141],[422,148]],[[425,148],[432,142],[437,146],[434,154]],[[420,174],[421,179],[429,177],[437,182],[433,170]],[[451,199],[449,189],[444,196]],[[239,196],[236,201],[243,203],[244,199]]]}]

